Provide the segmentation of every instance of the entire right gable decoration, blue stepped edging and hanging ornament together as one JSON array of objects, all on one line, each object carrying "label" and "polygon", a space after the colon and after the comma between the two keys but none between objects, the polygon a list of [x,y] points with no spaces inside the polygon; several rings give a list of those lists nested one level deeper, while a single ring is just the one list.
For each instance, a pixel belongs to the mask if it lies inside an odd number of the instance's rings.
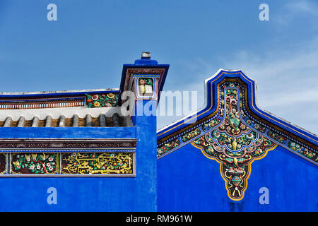
[{"label": "entire right gable decoration, blue stepped edging and hanging ornament together", "polygon": [[158,131],[158,159],[191,143],[220,163],[234,201],[244,197],[252,162],[277,145],[317,165],[317,136],[259,109],[255,86],[242,71],[219,70],[206,81],[206,107]]}]

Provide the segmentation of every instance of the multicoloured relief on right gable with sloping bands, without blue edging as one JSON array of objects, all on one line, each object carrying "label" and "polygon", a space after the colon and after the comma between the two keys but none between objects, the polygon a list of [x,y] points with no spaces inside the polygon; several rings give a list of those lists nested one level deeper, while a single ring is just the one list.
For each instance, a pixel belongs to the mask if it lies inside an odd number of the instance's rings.
[{"label": "multicoloured relief on right gable with sloping bands, without blue edging", "polygon": [[235,78],[218,83],[218,107],[214,114],[192,128],[158,141],[157,155],[163,157],[187,143],[199,148],[208,158],[220,163],[220,174],[228,196],[234,201],[244,197],[254,160],[265,157],[277,145],[307,158],[318,160],[317,153],[283,133],[254,119],[246,109],[247,87]]}]

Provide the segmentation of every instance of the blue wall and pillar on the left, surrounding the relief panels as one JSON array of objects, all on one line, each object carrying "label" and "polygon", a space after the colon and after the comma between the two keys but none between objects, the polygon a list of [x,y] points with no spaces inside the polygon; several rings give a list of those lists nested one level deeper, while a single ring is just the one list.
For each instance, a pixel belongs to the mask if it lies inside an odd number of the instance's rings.
[{"label": "blue wall and pillar on the left, surrounding the relief panels", "polygon": [[[137,138],[137,147],[134,178],[1,177],[0,211],[156,211],[156,118],[134,120],[130,128],[1,128],[6,138]],[[49,187],[57,189],[56,205],[47,203]]]}]

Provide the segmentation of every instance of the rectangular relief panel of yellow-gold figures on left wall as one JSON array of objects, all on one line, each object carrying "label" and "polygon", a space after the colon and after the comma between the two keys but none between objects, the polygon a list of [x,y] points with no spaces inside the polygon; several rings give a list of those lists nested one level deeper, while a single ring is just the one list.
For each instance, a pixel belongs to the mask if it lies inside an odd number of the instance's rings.
[{"label": "rectangular relief panel of yellow-gold figures on left wall", "polygon": [[62,153],[62,174],[132,174],[132,153]]}]

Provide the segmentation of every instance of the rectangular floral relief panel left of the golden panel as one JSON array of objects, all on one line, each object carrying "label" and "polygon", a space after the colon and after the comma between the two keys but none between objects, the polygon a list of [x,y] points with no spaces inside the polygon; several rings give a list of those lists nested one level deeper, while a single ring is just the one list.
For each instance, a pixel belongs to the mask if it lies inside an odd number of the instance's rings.
[{"label": "rectangular floral relief panel left of the golden panel", "polygon": [[54,174],[57,171],[55,153],[17,153],[11,158],[13,174]]}]

